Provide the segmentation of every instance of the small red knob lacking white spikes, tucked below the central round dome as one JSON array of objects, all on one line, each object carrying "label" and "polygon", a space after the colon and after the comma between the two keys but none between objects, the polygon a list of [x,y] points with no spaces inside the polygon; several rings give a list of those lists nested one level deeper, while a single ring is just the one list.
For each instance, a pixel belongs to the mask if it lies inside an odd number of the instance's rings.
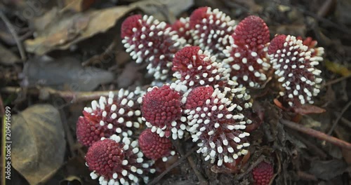
[{"label": "small red knob lacking white spikes, tucked below the central round dome", "polygon": [[171,155],[172,142],[166,137],[159,137],[156,132],[147,128],[139,136],[139,147],[145,157],[152,160],[167,157]]}]

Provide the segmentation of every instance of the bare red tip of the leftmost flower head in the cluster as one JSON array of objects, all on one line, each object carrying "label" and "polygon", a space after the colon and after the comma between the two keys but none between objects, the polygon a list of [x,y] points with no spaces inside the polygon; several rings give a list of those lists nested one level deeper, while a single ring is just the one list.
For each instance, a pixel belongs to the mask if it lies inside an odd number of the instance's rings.
[{"label": "bare red tip of the leftmost flower head in the cluster", "polygon": [[[84,114],[84,113],[83,113]],[[77,121],[77,139],[84,146],[91,146],[101,137],[110,137],[114,130],[107,128],[107,125],[101,126],[99,121],[91,116],[80,116]]]}]

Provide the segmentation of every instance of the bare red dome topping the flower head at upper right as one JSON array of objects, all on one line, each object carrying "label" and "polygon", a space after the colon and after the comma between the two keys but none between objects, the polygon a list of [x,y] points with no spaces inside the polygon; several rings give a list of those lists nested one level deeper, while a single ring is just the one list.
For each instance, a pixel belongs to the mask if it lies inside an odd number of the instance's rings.
[{"label": "bare red dome topping the flower head at upper right", "polygon": [[263,19],[250,15],[239,22],[232,37],[238,46],[262,49],[270,41],[270,30]]}]

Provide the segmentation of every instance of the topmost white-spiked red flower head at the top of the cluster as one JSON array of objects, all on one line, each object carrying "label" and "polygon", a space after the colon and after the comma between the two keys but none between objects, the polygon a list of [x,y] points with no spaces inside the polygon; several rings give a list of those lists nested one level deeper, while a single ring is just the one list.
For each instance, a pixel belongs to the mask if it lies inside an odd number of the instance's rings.
[{"label": "topmost white-spiked red flower head at the top of the cluster", "polygon": [[220,54],[220,51],[229,45],[227,39],[232,34],[234,26],[234,20],[218,9],[201,7],[190,15],[194,45],[200,46],[202,50],[208,50],[213,55]]}]

